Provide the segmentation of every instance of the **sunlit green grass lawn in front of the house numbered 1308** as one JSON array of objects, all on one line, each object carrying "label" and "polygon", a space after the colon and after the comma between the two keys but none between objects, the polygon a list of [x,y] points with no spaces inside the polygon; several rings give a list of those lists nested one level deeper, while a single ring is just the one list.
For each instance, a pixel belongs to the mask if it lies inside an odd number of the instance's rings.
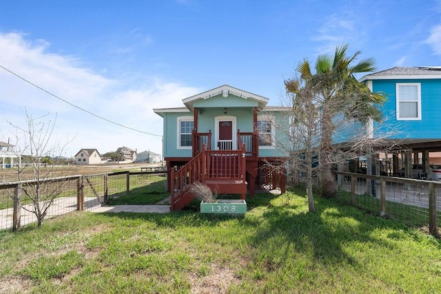
[{"label": "sunlit green grass lawn in front of the house numbered 1308", "polygon": [[441,240],[304,193],[245,218],[76,212],[0,231],[7,293],[437,293]]}]

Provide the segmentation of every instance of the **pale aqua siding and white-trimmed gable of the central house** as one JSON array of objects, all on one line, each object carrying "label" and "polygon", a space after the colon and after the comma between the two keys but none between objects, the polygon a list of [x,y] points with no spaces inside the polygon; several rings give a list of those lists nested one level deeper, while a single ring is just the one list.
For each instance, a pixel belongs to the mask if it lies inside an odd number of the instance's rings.
[{"label": "pale aqua siding and white-trimmed gable of the central house", "polygon": [[[271,136],[271,145],[259,147],[259,157],[283,157],[287,156],[289,139],[286,129],[281,130],[280,125],[289,127],[289,115],[285,114],[285,107],[266,107],[268,99],[243,90],[224,85],[214,90],[183,99],[185,107],[154,109],[163,117],[163,154],[165,158],[191,158],[192,148],[189,138],[193,128],[198,133],[212,132],[212,149],[217,149],[219,140],[219,122],[232,121],[233,147],[237,148],[237,132],[254,132],[254,111],[258,109],[257,120],[270,121],[270,127],[266,128]],[[197,119],[195,119],[197,111]],[[193,125],[197,122],[197,126]],[[267,124],[268,125],[268,124]],[[265,126],[267,126],[265,125]],[[181,127],[186,127],[181,133]],[[270,134],[271,133],[271,134]],[[181,135],[187,136],[186,146],[181,146]],[[243,142],[250,145],[250,142]],[[185,145],[184,144],[184,145]],[[247,147],[251,149],[252,147]]]}]

